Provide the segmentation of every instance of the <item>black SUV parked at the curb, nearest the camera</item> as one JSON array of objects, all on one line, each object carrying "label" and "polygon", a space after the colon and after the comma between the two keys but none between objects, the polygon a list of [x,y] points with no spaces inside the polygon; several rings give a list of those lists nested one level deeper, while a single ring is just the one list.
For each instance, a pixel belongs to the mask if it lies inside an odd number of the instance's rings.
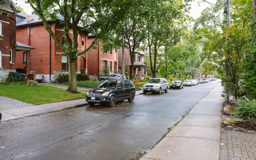
[{"label": "black SUV parked at the curb, nearest the camera", "polygon": [[135,86],[131,80],[105,80],[97,88],[89,90],[86,101],[90,105],[95,103],[108,104],[113,107],[118,100],[134,100]]}]

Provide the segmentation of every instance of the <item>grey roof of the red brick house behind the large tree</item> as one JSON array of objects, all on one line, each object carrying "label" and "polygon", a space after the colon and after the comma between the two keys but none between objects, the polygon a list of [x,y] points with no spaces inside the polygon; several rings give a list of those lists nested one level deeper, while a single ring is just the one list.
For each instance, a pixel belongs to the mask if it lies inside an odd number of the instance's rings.
[{"label": "grey roof of the red brick house behind the large tree", "polygon": [[[32,20],[27,22],[27,17],[31,16]],[[18,21],[16,21],[16,26],[25,26],[25,25],[29,25],[29,24],[37,24],[37,23],[41,23],[42,20],[40,19],[39,16],[37,16],[36,14],[26,14],[26,13],[18,13],[17,14],[18,17]],[[46,19],[48,22],[51,21],[50,18]],[[57,14],[57,20],[63,21],[64,20],[64,16],[62,16],[62,14],[58,13]],[[82,24],[78,24],[77,25],[79,28],[82,28]],[[88,30],[87,30],[88,31]]]}]

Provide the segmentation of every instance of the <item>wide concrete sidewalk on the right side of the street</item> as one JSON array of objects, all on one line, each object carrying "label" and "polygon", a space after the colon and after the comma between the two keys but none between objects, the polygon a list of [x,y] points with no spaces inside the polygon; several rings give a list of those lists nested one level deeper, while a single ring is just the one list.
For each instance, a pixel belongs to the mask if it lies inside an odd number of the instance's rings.
[{"label": "wide concrete sidewalk on the right side of the street", "polygon": [[222,91],[219,83],[140,160],[218,160]]}]

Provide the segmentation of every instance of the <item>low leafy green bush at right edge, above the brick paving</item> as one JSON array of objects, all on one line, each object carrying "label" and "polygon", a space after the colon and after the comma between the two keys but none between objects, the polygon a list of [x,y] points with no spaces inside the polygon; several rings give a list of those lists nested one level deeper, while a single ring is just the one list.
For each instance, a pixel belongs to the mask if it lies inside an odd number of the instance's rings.
[{"label": "low leafy green bush at right edge, above the brick paving", "polygon": [[247,97],[236,100],[236,112],[234,115],[242,120],[250,120],[255,123],[256,118],[256,100],[249,100]]}]

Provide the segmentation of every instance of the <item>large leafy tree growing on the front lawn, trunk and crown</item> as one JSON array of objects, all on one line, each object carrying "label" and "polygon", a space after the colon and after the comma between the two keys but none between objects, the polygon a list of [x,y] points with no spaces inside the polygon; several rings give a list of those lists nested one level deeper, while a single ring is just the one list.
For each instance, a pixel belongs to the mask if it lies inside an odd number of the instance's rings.
[{"label": "large leafy tree growing on the front lawn, trunk and crown", "polygon": [[[108,32],[113,30],[130,8],[132,0],[28,0],[50,36],[68,56],[69,83],[67,92],[76,90],[76,60],[97,44],[98,39],[109,39]],[[57,9],[56,9],[57,8]],[[65,43],[62,44],[48,25],[47,18],[56,21],[57,14],[64,16],[63,25]],[[82,24],[83,28],[78,28]],[[73,36],[70,36],[70,29]],[[78,31],[90,30],[96,39],[83,52],[78,52]]]}]

